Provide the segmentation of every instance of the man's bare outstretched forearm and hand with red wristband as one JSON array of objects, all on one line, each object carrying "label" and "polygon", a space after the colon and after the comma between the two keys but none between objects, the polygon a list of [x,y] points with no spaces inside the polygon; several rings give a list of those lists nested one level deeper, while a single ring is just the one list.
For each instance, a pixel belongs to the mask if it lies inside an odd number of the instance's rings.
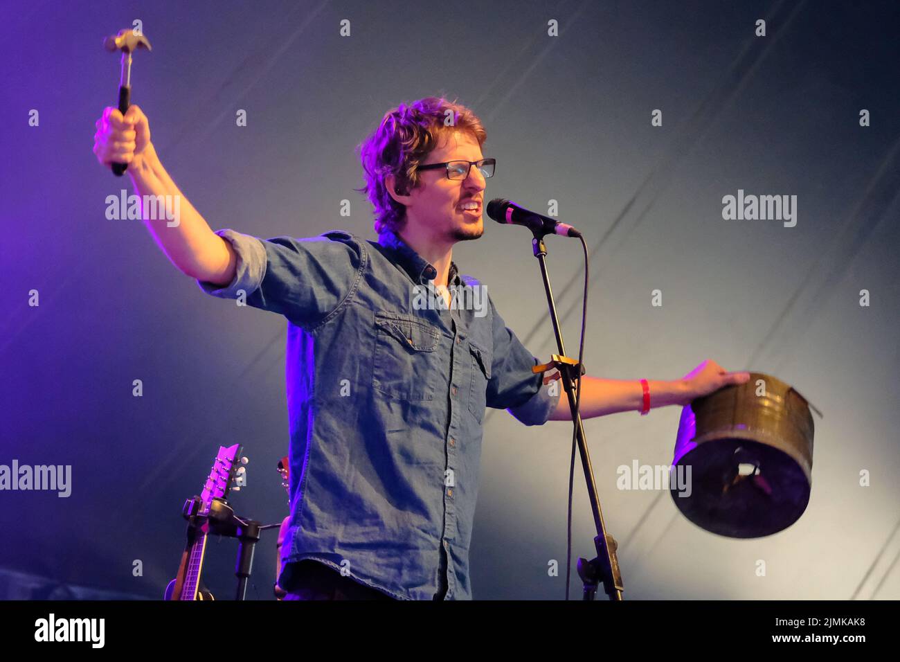
[{"label": "man's bare outstretched forearm and hand with red wristband", "polygon": [[[663,381],[648,379],[650,406],[671,404],[684,406],[701,395],[712,393],[729,384],[743,384],[750,379],[748,372],[728,372],[716,361],[706,360],[681,379]],[[560,385],[562,389],[562,384]],[[581,377],[581,418],[595,418],[608,413],[639,412],[644,407],[644,387],[637,379],[602,379]],[[569,398],[563,393],[549,421],[572,421]]]}]

